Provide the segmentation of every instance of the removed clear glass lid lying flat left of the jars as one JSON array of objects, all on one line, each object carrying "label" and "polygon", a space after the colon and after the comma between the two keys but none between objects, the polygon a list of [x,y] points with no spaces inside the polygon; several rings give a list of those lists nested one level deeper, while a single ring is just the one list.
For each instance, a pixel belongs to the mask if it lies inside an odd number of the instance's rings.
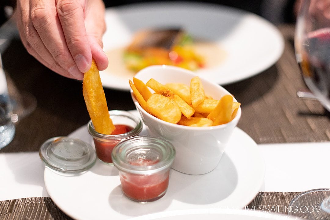
[{"label": "removed clear glass lid lying flat left of the jars", "polygon": [[51,169],[65,172],[82,172],[95,164],[93,147],[69,137],[53,137],[45,141],[39,150],[41,160]]}]

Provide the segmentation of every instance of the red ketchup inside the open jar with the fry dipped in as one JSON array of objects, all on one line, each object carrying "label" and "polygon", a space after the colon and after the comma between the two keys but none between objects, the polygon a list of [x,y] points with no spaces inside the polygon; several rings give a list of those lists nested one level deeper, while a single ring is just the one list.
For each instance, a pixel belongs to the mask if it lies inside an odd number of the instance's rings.
[{"label": "red ketchup inside the open jar with the fry dipped in", "polygon": [[[116,129],[112,132],[111,135],[124,134],[127,133],[133,128],[127,125],[115,125]],[[117,140],[97,140],[94,138],[95,151],[97,157],[106,163],[112,163],[111,153],[114,147],[121,141]]]}]

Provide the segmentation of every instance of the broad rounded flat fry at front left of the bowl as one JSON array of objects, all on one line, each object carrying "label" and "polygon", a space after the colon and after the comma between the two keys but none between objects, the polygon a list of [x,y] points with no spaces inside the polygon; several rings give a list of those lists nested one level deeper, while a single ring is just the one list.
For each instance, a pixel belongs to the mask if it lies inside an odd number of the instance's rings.
[{"label": "broad rounded flat fry at front left of the bowl", "polygon": [[152,115],[166,122],[177,124],[181,119],[178,104],[161,94],[152,94],[147,101],[147,108]]}]

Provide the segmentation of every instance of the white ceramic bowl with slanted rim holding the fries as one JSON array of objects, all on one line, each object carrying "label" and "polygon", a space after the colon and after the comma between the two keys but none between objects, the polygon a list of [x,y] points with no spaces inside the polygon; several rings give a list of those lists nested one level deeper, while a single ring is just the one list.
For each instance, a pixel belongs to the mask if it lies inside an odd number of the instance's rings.
[{"label": "white ceramic bowl with slanted rim holding the fries", "polygon": [[[144,83],[153,78],[162,84],[184,83],[186,85],[190,85],[190,80],[194,76],[196,74],[192,71],[167,65],[149,66],[135,75]],[[200,76],[205,94],[218,100],[223,95],[230,94],[223,87],[202,77]],[[187,174],[208,173],[218,165],[226,144],[241,117],[241,108],[239,108],[236,117],[227,124],[212,127],[176,125],[150,115],[139,105],[132,90],[131,95],[144,124],[149,128],[149,135],[162,137],[174,145],[176,157],[172,168]],[[234,99],[234,101],[237,100]]]}]

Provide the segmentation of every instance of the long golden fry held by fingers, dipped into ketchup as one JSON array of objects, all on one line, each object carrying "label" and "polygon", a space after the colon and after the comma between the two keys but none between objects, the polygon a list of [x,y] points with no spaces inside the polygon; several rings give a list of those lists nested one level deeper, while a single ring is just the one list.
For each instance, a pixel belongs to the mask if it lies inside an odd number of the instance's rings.
[{"label": "long golden fry held by fingers, dipped into ketchup", "polygon": [[94,59],[91,68],[84,73],[82,94],[95,130],[101,134],[111,134],[115,126],[109,115],[99,70]]}]

